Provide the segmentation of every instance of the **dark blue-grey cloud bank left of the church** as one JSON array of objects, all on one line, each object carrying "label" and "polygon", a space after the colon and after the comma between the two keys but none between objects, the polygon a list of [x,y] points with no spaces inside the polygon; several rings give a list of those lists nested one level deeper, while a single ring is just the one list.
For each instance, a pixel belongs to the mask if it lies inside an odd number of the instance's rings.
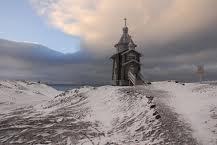
[{"label": "dark blue-grey cloud bank left of the church", "polygon": [[0,40],[0,79],[109,83],[110,62],[84,51],[62,54],[38,44]]}]

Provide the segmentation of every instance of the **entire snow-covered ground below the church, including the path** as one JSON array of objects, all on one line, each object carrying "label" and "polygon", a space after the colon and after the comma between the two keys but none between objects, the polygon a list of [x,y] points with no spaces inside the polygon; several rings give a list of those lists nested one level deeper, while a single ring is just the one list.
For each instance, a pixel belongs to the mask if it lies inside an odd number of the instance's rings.
[{"label": "entire snow-covered ground below the church, including the path", "polygon": [[1,84],[4,96],[12,93],[28,106],[2,111],[0,144],[217,144],[217,86],[155,82],[58,92],[33,82]]}]

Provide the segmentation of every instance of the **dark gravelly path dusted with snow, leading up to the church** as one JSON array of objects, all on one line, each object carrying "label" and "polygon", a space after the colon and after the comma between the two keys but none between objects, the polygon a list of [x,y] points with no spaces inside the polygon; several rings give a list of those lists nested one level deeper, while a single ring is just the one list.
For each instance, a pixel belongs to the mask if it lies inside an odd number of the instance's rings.
[{"label": "dark gravelly path dusted with snow, leading up to the church", "polygon": [[192,135],[190,124],[180,119],[180,114],[169,106],[170,96],[165,90],[151,86],[137,87],[146,96],[154,96],[156,110],[161,115],[161,129],[167,133],[164,138],[169,145],[198,145],[198,141]]}]

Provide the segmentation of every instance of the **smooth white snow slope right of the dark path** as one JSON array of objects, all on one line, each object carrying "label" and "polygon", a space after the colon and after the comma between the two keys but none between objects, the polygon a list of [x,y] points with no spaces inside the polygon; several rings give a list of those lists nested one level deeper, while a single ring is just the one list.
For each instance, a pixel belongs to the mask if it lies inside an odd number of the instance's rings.
[{"label": "smooth white snow slope right of the dark path", "polygon": [[170,97],[166,104],[189,123],[193,135],[204,145],[217,144],[217,86],[197,83],[155,82],[153,90]]}]

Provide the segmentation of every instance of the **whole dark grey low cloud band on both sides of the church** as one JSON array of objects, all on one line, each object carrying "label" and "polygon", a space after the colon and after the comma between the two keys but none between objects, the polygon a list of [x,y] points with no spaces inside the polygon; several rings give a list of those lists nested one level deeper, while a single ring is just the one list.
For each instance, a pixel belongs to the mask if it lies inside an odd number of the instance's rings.
[{"label": "whole dark grey low cloud band on both sides of the church", "polygon": [[[202,64],[206,69],[206,79],[216,80],[217,33],[203,34],[160,46],[152,45],[149,49],[138,48],[143,53],[142,73],[145,78],[151,81],[196,81],[196,65]],[[111,54],[114,49],[111,47]],[[91,53],[81,50],[65,55],[42,45],[1,39],[0,79],[109,84],[111,54],[94,58]]]}]

